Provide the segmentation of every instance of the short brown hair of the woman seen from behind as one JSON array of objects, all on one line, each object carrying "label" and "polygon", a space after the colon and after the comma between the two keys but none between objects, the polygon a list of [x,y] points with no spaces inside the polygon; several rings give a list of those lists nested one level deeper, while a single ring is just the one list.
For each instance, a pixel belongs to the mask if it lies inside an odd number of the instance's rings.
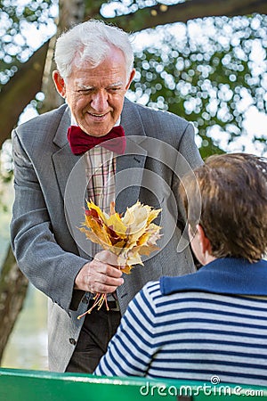
[{"label": "short brown hair of the woman seen from behind", "polygon": [[214,155],[194,175],[183,180],[182,201],[190,226],[193,230],[202,226],[213,256],[250,262],[263,258],[267,250],[267,159],[247,153]]}]

